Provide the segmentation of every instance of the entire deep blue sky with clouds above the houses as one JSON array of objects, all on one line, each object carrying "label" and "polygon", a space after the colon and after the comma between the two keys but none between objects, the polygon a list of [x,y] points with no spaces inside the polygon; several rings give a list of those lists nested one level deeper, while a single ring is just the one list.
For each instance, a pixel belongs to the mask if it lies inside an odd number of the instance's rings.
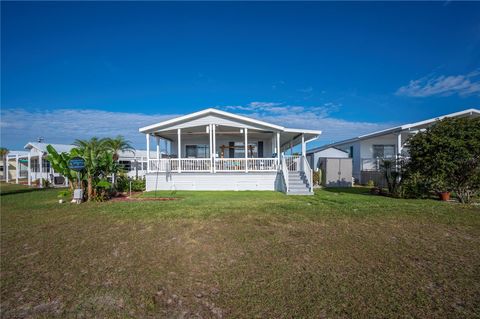
[{"label": "entire deep blue sky with clouds above the houses", "polygon": [[207,107],[323,130],[317,145],[480,107],[480,3],[1,6],[10,149],[117,134],[144,148],[138,127]]}]

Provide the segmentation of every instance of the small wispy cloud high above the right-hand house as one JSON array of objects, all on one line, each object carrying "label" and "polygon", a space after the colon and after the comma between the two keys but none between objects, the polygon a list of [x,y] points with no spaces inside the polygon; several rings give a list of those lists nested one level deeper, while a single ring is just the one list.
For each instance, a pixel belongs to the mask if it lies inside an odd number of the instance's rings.
[{"label": "small wispy cloud high above the right-hand house", "polygon": [[411,97],[428,96],[480,96],[480,70],[465,75],[440,75],[426,76],[418,80],[412,80],[408,85],[402,86],[396,95]]}]

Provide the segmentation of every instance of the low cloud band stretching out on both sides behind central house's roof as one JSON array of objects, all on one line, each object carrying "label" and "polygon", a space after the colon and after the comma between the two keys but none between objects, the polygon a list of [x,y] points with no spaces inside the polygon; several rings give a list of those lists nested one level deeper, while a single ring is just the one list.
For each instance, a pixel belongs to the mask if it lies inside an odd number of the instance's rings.
[{"label": "low cloud band stretching out on both sides behind central house's roof", "polygon": [[[240,113],[263,121],[292,128],[323,131],[319,142],[325,144],[392,126],[392,123],[347,121],[332,117],[340,105],[325,103],[318,106],[286,105],[277,102],[252,102],[247,105],[217,108]],[[1,146],[21,149],[39,136],[50,143],[72,143],[75,139],[92,136],[123,135],[136,148],[145,148],[145,137],[138,129],[178,116],[179,114],[141,114],[101,110],[1,110]]]}]

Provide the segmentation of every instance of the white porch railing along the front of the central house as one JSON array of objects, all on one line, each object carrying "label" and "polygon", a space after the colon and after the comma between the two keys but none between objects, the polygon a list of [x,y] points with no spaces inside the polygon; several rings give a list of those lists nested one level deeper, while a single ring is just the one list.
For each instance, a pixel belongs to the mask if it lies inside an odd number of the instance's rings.
[{"label": "white porch railing along the front of the central house", "polygon": [[150,160],[150,172],[265,172],[277,171],[276,158],[163,158]]}]

